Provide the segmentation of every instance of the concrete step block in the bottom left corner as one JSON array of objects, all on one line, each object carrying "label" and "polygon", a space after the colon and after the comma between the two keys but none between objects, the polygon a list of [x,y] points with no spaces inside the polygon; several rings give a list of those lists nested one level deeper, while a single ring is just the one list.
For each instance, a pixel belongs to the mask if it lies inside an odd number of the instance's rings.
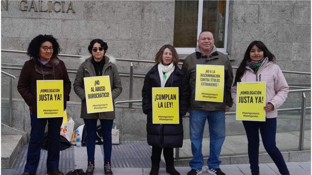
[{"label": "concrete step block in the bottom left corner", "polygon": [[1,170],[11,168],[21,146],[21,135],[1,135]]}]

